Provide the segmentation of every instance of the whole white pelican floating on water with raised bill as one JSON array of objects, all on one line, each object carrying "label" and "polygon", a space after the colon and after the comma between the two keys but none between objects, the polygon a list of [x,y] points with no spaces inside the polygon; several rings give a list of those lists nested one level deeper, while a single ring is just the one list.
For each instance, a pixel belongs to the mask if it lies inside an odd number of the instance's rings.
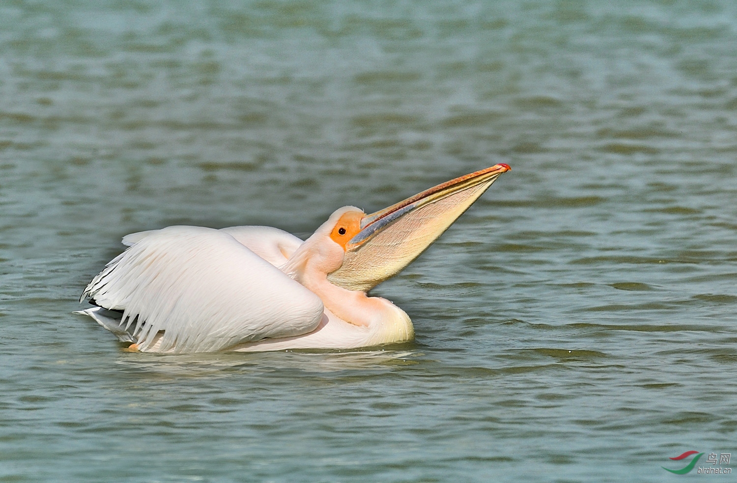
[{"label": "whole white pelican floating on water with raised bill", "polygon": [[94,307],[77,313],[143,352],[408,341],[408,315],[368,290],[417,258],[509,169],[496,164],[373,214],[339,208],[304,242],[259,226],[133,233],[80,297]]}]

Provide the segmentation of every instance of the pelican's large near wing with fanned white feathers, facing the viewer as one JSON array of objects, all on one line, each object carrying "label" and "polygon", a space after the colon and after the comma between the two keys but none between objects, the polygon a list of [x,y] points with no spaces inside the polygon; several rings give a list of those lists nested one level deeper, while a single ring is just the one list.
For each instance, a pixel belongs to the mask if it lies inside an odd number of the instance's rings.
[{"label": "pelican's large near wing with fanned white feathers, facing the viewer", "polygon": [[320,298],[221,230],[173,226],[130,237],[85,288],[147,350],[222,350],[241,342],[307,334]]}]

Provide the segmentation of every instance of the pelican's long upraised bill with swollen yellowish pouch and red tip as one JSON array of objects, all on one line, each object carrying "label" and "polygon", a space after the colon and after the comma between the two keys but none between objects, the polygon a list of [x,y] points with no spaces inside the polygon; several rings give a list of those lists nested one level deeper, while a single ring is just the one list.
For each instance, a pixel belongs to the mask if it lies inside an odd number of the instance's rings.
[{"label": "pelican's long upraised bill with swollen yellowish pouch and red tip", "polygon": [[346,244],[343,264],[328,275],[328,280],[346,289],[368,292],[397,275],[510,169],[499,163],[364,216],[361,230]]}]

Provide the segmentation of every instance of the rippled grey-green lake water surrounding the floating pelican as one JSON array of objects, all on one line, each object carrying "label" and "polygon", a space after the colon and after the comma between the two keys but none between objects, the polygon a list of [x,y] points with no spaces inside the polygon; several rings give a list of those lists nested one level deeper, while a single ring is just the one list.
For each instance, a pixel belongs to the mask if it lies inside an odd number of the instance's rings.
[{"label": "rippled grey-green lake water surrounding the floating pelican", "polygon": [[[734,2],[10,0],[0,52],[0,482],[737,459]],[[307,236],[501,162],[375,290],[415,342],[155,356],[71,314],[126,233]]]}]

